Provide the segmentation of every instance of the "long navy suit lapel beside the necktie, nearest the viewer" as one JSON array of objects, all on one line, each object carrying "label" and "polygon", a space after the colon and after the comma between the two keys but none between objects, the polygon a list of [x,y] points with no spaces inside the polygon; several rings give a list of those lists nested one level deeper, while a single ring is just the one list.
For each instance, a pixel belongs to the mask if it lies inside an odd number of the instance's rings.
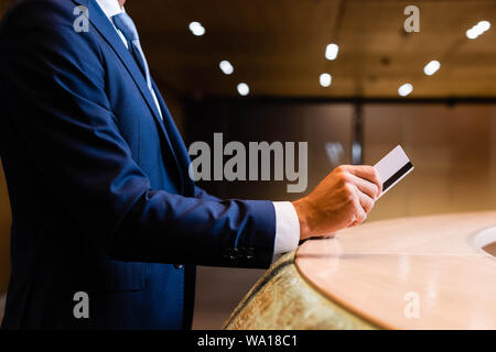
[{"label": "long navy suit lapel beside the necktie, nearest the viewer", "polygon": [[[105,13],[101,11],[100,7],[95,3],[94,0],[73,0],[73,2],[77,4],[82,4],[87,7],[88,13],[89,13],[89,22],[95,26],[95,29],[100,33],[100,35],[107,41],[107,43],[112,47],[117,56],[120,58],[125,67],[127,68],[128,73],[131,75],[134,84],[139,88],[142,98],[145,100],[148,107],[150,108],[150,111],[153,114],[153,118],[155,119],[157,124],[160,128],[160,131],[162,132],[162,135],[164,136],[166,144],[169,146],[169,151],[172,154],[172,157],[175,161],[175,164],[177,166],[177,172],[180,174],[180,183],[181,188],[183,189],[184,183],[181,172],[181,164],[174,153],[174,147],[171,143],[170,136],[165,130],[164,122],[162,121],[162,118],[160,117],[159,110],[157,109],[157,105],[153,100],[153,97],[148,89],[147,80],[141,73],[140,68],[138,67],[138,64],[136,63],[134,58],[132,57],[129,50],[126,47],[126,45],[122,43],[122,40],[117,34],[116,30],[111,25],[108,18],[105,15]],[[157,89],[155,89],[157,94]],[[158,99],[160,99],[160,94],[157,94]],[[165,107],[166,110],[166,107]],[[165,111],[162,112],[164,119],[170,119],[169,111],[165,114]]]}]

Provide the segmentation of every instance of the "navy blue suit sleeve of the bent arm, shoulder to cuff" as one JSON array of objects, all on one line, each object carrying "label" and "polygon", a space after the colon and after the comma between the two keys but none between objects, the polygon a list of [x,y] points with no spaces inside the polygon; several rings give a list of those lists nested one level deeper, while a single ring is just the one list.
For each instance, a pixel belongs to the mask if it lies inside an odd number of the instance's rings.
[{"label": "navy blue suit sleeve of the bent arm, shoulder to cuff", "polygon": [[76,33],[56,2],[36,3],[0,35],[8,122],[79,232],[120,260],[267,267],[273,205],[152,189],[119,133],[91,33]]}]

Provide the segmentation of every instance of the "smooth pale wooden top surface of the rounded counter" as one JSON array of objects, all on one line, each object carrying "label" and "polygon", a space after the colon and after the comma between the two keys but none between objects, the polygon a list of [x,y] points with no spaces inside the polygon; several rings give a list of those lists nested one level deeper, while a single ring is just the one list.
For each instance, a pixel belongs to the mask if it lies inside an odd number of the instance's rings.
[{"label": "smooth pale wooden top surface of the rounded counter", "polygon": [[496,329],[496,258],[474,243],[494,226],[496,212],[371,222],[305,242],[295,263],[325,296],[379,327]]}]

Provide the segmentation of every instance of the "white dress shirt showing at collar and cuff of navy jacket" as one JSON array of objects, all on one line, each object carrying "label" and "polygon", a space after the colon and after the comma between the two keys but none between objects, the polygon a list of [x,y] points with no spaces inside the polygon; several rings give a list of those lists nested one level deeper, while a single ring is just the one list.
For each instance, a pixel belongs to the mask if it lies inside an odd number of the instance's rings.
[{"label": "white dress shirt showing at collar and cuff of navy jacket", "polygon": [[[125,9],[120,7],[118,0],[96,0],[96,2],[112,25],[114,22],[111,18],[125,11]],[[114,29],[117,34],[119,34],[126,47],[128,47],[128,42],[123,34],[115,25]],[[159,108],[159,112],[162,114],[157,96],[153,91],[152,95]],[[296,210],[290,201],[274,201],[272,204],[276,210],[276,256],[285,252],[291,252],[298,248],[298,242],[300,241],[300,221],[298,219]]]}]

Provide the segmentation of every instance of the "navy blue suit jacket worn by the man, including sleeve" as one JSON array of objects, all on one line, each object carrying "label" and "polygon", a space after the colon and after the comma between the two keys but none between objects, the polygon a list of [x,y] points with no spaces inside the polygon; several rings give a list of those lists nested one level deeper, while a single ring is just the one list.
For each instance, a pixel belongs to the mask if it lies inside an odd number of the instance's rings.
[{"label": "navy blue suit jacket worn by the man, including sleeve", "polygon": [[[79,4],[89,9],[87,33],[73,29]],[[28,0],[4,16],[0,152],[12,276],[3,328],[188,328],[195,264],[270,264],[272,204],[197,188],[157,95],[163,121],[94,0]],[[88,319],[74,317],[77,292],[89,296]]]}]

